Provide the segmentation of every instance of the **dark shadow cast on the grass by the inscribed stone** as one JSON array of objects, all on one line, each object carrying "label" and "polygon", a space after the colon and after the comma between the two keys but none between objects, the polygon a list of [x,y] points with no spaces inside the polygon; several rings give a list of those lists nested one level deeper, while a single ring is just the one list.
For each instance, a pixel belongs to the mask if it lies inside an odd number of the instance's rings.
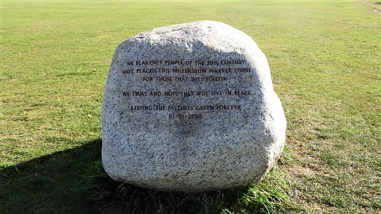
[{"label": "dark shadow cast on the grass by the inscribed stone", "polygon": [[168,193],[113,181],[102,139],[0,170],[0,213],[220,213],[247,190]]}]

